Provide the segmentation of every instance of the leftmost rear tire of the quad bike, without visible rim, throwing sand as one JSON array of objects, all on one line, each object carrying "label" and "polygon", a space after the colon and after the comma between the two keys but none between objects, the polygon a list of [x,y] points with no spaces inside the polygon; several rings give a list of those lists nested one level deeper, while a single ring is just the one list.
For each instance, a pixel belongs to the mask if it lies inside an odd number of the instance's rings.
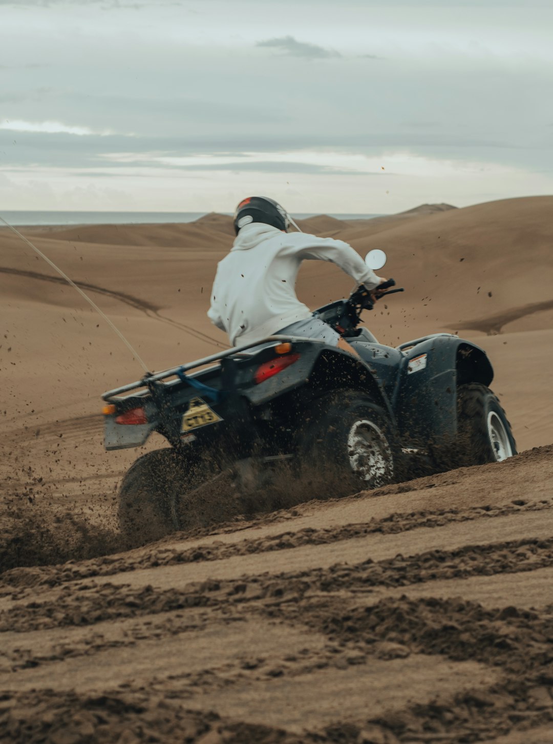
[{"label": "leftmost rear tire of the quad bike, without visible rim, throwing sand", "polygon": [[188,486],[187,462],[175,449],[138,458],[121,482],[119,526],[127,542],[140,545],[178,530],[178,504]]}]

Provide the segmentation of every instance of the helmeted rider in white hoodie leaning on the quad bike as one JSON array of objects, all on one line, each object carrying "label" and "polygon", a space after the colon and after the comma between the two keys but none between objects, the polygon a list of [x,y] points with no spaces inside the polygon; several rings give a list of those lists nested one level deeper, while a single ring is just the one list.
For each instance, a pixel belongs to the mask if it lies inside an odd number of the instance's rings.
[{"label": "helmeted rider in white hoodie leaning on the quad bike", "polygon": [[[290,233],[294,227],[297,232]],[[311,310],[295,292],[303,260],[332,261],[358,285],[375,289],[386,282],[343,240],[304,234],[277,202],[266,196],[242,199],[234,213],[236,240],[217,267],[210,321],[230,344],[262,341],[274,333],[322,339],[358,356],[357,351]],[[378,296],[378,290],[373,296]]]}]

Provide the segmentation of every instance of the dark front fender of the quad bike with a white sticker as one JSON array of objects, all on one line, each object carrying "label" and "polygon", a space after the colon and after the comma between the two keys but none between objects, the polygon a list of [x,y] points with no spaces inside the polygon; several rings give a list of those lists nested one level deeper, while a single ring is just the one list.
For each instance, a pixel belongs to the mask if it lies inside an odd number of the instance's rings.
[{"label": "dark front fender of the quad bike with a white sticker", "polygon": [[457,386],[489,385],[494,371],[483,349],[449,333],[426,336],[398,347],[401,364],[394,407],[401,438],[432,446],[457,434]]}]

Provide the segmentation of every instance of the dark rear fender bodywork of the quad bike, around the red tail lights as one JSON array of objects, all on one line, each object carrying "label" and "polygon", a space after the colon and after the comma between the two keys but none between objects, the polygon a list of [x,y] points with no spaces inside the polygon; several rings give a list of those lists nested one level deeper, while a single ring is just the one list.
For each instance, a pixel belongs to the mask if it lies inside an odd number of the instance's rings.
[{"label": "dark rear fender bodywork of the quad bike, around the red tail lights", "polygon": [[[282,341],[291,342],[291,352],[298,358],[289,367],[255,384],[253,378],[259,365],[271,362],[272,359],[285,358],[282,352],[275,350]],[[220,365],[197,371],[198,367],[211,362],[220,362]],[[178,379],[168,381],[171,377],[180,377],[182,373],[189,373],[186,383]],[[196,385],[192,385],[194,379],[197,381]],[[243,417],[243,403],[248,407],[259,408],[273,400],[282,400],[287,394],[302,387],[311,387],[317,393],[337,388],[370,390],[375,400],[393,417],[389,401],[379,388],[374,374],[360,360],[352,358],[337,347],[327,346],[323,341],[294,336],[270,336],[261,343],[225,350],[104,393],[103,399],[109,404],[106,406],[108,410],[104,411],[106,449],[140,446],[154,431],[163,434],[175,446],[181,440],[181,417],[189,399],[205,395],[202,389],[196,389],[198,384],[215,394],[221,391],[221,408],[218,408],[218,403],[211,405],[220,410],[227,424],[237,417]],[[121,397],[123,394],[128,395]],[[133,426],[117,423],[119,414],[139,407],[146,409],[147,423],[133,423]],[[111,408],[114,411],[109,410]],[[161,415],[162,411],[169,415]]]}]

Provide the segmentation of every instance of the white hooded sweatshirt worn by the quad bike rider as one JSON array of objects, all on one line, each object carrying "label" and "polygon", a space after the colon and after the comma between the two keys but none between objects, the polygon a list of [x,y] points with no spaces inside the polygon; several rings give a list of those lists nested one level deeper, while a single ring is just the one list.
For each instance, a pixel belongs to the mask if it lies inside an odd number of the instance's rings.
[{"label": "white hooded sweatshirt worn by the quad bike rider", "polygon": [[239,231],[230,253],[217,266],[208,318],[228,333],[233,346],[261,341],[311,318],[311,310],[294,289],[305,259],[332,261],[367,289],[381,281],[343,240],[285,233],[252,222]]}]

